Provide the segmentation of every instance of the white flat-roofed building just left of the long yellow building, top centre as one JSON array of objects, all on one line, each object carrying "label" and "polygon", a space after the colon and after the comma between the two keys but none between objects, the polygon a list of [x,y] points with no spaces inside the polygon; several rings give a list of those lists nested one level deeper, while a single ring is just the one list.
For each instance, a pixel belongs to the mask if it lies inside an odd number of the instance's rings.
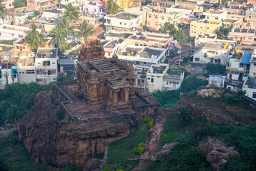
[{"label": "white flat-roofed building just left of the long yellow building, top centre", "polygon": [[120,12],[118,14],[109,14],[104,17],[106,31],[135,31],[140,28],[142,16]]}]

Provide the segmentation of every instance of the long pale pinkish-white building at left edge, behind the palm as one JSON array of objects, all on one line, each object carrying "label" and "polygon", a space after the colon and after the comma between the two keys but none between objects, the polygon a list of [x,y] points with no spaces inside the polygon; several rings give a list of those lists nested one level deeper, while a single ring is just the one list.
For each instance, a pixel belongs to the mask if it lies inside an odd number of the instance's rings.
[{"label": "long pale pinkish-white building at left edge, behind the palm", "polygon": [[[26,36],[26,31],[29,31],[28,27],[2,24],[0,25],[0,40],[23,38]],[[40,29],[37,29],[37,31],[41,33]]]}]

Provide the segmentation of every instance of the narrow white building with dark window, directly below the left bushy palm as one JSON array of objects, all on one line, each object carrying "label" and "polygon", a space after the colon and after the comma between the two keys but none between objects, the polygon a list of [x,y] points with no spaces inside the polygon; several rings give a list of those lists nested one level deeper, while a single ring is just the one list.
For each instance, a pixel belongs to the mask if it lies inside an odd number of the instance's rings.
[{"label": "narrow white building with dark window, directly below the left bushy palm", "polygon": [[36,82],[46,85],[58,76],[57,48],[39,48],[36,52]]}]

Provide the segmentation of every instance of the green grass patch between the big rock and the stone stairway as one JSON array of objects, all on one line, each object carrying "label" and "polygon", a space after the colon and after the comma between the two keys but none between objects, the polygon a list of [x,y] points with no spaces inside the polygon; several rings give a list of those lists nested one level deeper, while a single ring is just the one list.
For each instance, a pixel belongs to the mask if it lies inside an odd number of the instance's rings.
[{"label": "green grass patch between the big rock and the stone stairway", "polygon": [[111,142],[108,145],[106,165],[109,170],[132,170],[135,165],[138,165],[138,160],[128,160],[128,158],[135,157],[133,149],[138,147],[140,142],[145,143],[148,133],[147,124],[143,124],[126,138]]}]

